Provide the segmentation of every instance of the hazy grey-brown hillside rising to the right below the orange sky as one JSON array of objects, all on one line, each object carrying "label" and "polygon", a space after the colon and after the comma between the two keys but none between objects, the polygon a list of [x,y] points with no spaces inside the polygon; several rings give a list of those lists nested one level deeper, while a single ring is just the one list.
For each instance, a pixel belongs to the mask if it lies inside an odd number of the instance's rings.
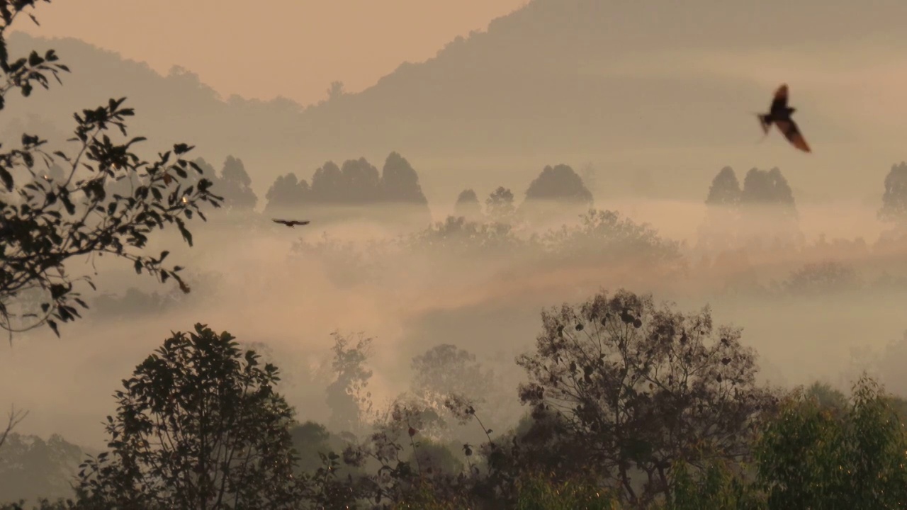
[{"label": "hazy grey-brown hillside rising to the right below the orange sky", "polygon": [[[847,92],[823,76],[866,55],[887,58],[878,48],[893,54],[897,48],[881,42],[897,40],[905,15],[898,0],[872,9],[844,0],[819,9],[780,0],[662,2],[658,9],[534,0],[362,93],[307,108],[220,98],[185,70],[161,76],[78,40],[15,34],[14,52],[54,47],[74,72],[65,87],[39,91],[41,102],[28,102],[27,111],[20,98],[11,100],[4,120],[27,112],[66,123],[73,110],[127,95],[136,132],[193,142],[209,161],[243,158],[259,195],[279,174],[308,178],[327,160],[380,161],[397,151],[414,163],[429,201],[443,206],[465,187],[504,184],[522,194],[542,167],[560,162],[594,162],[610,196],[629,192],[642,172],[654,182],[649,195],[700,201],[708,176],[732,164],[780,166],[792,171],[795,187],[862,199],[903,155],[885,134],[890,120],[857,128],[856,106],[823,107]],[[253,72],[250,66],[238,63],[237,72]],[[817,147],[809,159],[775,138],[755,143],[751,114],[782,81],[792,82],[792,101]],[[859,178],[847,172],[857,166],[865,169]],[[811,182],[819,176],[824,182]]]}]

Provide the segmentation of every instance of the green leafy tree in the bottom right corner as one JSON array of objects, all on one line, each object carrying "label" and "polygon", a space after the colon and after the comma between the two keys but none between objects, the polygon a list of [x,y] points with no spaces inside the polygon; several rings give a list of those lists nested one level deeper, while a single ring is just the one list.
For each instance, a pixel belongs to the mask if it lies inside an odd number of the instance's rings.
[{"label": "green leafy tree in the bottom right corner", "polygon": [[756,444],[769,508],[903,508],[907,451],[901,420],[870,378],[834,412],[803,390],[785,400]]}]

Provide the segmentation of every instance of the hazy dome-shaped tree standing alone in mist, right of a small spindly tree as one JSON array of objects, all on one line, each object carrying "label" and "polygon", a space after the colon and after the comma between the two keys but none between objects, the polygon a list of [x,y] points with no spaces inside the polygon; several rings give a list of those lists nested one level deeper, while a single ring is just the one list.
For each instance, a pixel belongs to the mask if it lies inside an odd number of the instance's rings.
[{"label": "hazy dome-shaped tree standing alone in mist, right of a small spindly tree", "polygon": [[565,164],[546,166],[526,190],[521,211],[533,221],[571,216],[575,220],[593,205],[592,193]]}]

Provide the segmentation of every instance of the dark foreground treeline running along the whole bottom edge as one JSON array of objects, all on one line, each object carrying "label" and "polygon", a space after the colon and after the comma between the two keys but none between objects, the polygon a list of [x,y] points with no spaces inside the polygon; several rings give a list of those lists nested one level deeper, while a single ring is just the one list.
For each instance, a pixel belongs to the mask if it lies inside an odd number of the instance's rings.
[{"label": "dark foreground treeline running along the whole bottom edge", "polygon": [[[278,368],[229,333],[174,333],[116,391],[107,450],[84,460],[75,495],[36,507],[907,505],[907,402],[867,377],[849,397],[757,384],[756,353],[707,307],[619,290],[545,310],[516,359],[527,382],[512,395],[530,412],[500,431],[490,373],[462,349],[414,358],[412,390],[373,409],[370,340],[335,340],[332,433],[298,423]],[[5,476],[23,466],[9,454]]]}]

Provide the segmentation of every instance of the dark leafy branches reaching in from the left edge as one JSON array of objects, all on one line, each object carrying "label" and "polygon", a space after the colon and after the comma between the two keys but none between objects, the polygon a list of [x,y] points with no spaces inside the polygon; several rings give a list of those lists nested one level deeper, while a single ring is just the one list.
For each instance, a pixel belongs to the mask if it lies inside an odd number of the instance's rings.
[{"label": "dark leafy branches reaching in from the left edge", "polygon": [[[45,0],[46,1],[46,0]],[[58,64],[53,50],[43,56],[31,52],[13,59],[6,51],[5,32],[26,8],[37,0],[0,1],[0,70],[5,74],[0,86],[0,109],[5,95],[18,89],[25,97],[34,84],[49,88],[49,76],[62,83],[61,72],[69,68]],[[30,14],[29,14],[30,15]],[[111,99],[98,108],[76,113],[74,156],[45,150],[46,140],[24,133],[18,147],[0,152],[0,327],[14,332],[47,324],[59,335],[58,321],[80,317],[73,305],[87,308],[75,284],[87,277],[73,278],[65,270],[68,260],[107,254],[129,260],[137,273],[146,270],[161,282],[176,280],[180,289],[189,287],[180,279],[181,268],[162,265],[169,251],[153,256],[143,252],[154,230],[176,225],[192,245],[186,222],[198,215],[202,202],[219,206],[220,198],[211,194],[211,182],[201,179],[194,186],[181,187],[175,177],[189,172],[201,173],[194,162],[180,159],[192,147],[173,145],[146,162],[133,151],[142,137],[118,141],[113,128],[128,137],[126,119],[134,112],[123,107],[125,98]],[[9,142],[7,142],[9,143]],[[48,174],[54,162],[63,166],[63,177]],[[44,170],[43,170],[44,169]],[[129,180],[136,184],[129,193],[115,192],[112,183]],[[24,293],[39,290],[40,309],[12,312],[14,302]]]}]

